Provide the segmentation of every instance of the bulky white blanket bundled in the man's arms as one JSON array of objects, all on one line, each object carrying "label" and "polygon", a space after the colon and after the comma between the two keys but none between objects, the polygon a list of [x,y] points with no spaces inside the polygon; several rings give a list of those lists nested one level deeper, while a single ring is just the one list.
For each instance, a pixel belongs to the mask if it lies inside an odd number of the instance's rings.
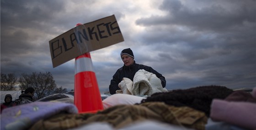
[{"label": "bulky white blanket bundled in the man's arms", "polygon": [[161,80],[154,73],[149,73],[144,69],[135,73],[133,81],[129,78],[123,78],[118,87],[121,90],[117,90],[117,94],[150,96],[158,92],[167,92],[167,89],[162,87]]}]

